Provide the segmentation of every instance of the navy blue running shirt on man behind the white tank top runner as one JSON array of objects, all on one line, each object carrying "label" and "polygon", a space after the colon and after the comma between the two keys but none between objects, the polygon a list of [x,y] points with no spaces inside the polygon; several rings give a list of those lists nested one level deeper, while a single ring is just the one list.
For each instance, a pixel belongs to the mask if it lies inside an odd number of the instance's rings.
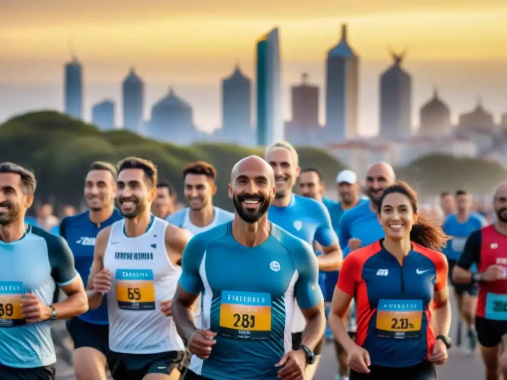
[{"label": "navy blue running shirt on man behind the white tank top runner", "polygon": [[[81,275],[85,287],[88,282],[88,276],[90,276],[93,251],[95,250],[95,239],[98,233],[121,218],[122,215],[120,211],[115,209],[107,220],[97,225],[90,220],[90,212],[85,211],[78,215],[67,216],[60,223],[60,236],[67,241],[70,249],[74,253],[76,269]],[[108,324],[107,303],[105,299],[106,296],[104,296],[104,301],[98,309],[89,310],[78,318],[97,325]]]}]

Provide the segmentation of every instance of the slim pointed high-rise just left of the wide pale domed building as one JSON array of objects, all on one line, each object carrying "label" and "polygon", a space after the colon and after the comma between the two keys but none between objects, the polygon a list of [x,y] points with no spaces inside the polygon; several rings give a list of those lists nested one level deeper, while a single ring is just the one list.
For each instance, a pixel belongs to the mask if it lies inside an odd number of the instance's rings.
[{"label": "slim pointed high-rise just left of the wide pale domed building", "polygon": [[123,80],[123,126],[133,132],[142,132],[142,108],[144,105],[144,83],[133,68]]}]

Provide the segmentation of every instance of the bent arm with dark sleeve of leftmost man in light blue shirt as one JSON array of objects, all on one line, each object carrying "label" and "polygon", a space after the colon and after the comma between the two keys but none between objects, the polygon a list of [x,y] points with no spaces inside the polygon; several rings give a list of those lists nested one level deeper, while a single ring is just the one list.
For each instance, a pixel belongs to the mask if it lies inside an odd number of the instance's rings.
[{"label": "bent arm with dark sleeve of leftmost man in light blue shirt", "polygon": [[[53,303],[58,319],[76,317],[88,311],[88,299],[81,276],[74,267],[74,255],[65,239],[52,236],[47,239],[51,277],[67,298]],[[50,308],[51,309],[51,308]],[[49,311],[51,314],[51,311]]]}]

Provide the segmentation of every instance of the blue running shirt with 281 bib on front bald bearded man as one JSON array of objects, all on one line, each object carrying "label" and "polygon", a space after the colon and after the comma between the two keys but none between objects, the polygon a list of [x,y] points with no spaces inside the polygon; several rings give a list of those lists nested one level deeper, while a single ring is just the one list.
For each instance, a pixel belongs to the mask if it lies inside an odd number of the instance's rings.
[{"label": "blue running shirt with 281 bib on front bald bearded man", "polygon": [[273,223],[264,243],[245,247],[228,222],[194,236],[182,266],[180,286],[202,293],[202,328],[218,333],[210,357],[194,355],[190,369],[213,380],[277,379],[295,299],[303,309],[322,302],[312,247]]}]

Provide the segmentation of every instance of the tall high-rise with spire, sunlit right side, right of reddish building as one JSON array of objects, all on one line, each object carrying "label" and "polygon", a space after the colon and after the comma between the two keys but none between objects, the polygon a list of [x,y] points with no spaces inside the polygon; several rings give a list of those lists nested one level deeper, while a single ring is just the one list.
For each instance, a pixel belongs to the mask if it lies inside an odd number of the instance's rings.
[{"label": "tall high-rise with spire, sunlit right side, right of reddish building", "polygon": [[347,40],[342,24],[338,45],[328,51],[325,82],[326,134],[343,140],[358,135],[359,57]]}]

